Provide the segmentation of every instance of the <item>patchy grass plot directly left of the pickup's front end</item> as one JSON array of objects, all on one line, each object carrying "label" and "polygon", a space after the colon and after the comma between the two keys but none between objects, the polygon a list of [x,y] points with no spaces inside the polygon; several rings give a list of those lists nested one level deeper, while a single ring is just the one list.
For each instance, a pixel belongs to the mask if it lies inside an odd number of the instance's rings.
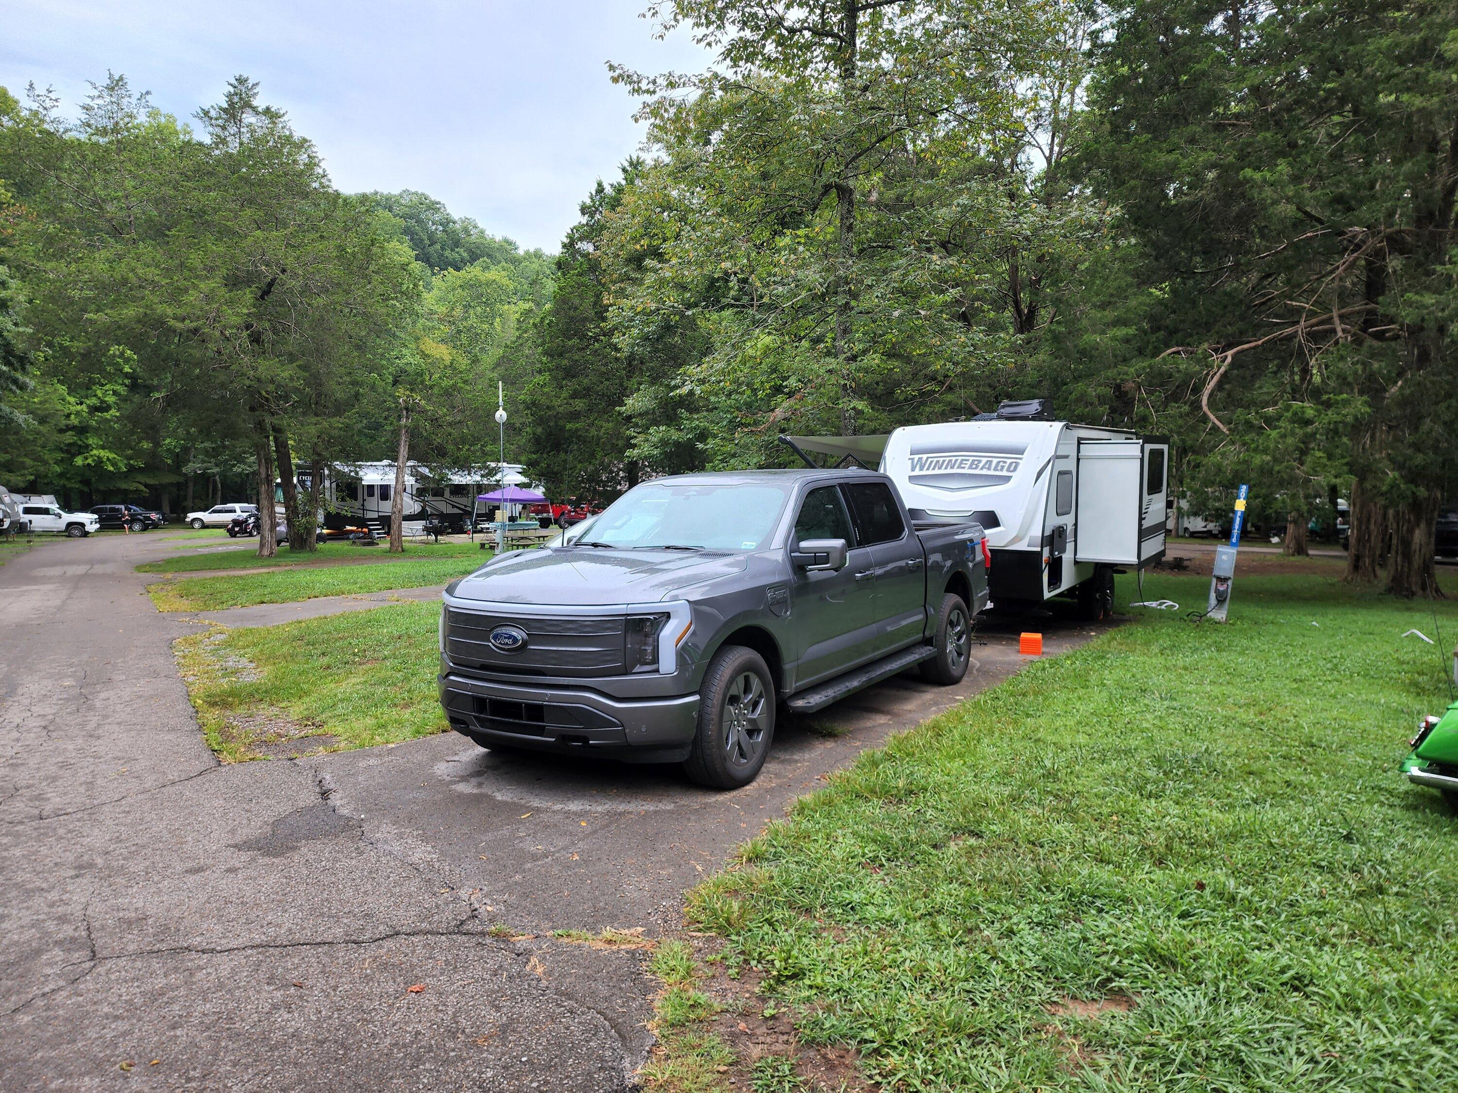
[{"label": "patchy grass plot directly left of the pickup's front end", "polygon": [[439,603],[402,603],[214,630],[181,638],[178,662],[225,762],[289,740],[305,749],[312,740],[328,749],[392,743],[446,729],[436,698],[439,618]]}]

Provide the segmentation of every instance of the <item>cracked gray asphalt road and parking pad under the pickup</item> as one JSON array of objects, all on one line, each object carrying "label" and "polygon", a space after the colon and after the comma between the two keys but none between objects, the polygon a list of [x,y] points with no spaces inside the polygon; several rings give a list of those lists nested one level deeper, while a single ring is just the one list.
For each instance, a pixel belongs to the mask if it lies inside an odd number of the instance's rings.
[{"label": "cracked gray asphalt road and parking pad under the pickup", "polygon": [[[93,536],[0,567],[4,1090],[628,1087],[642,953],[550,931],[671,928],[827,772],[1022,663],[989,630],[961,686],[898,678],[784,723],[728,794],[455,734],[219,767],[171,651],[195,624],[131,571],[166,549]],[[1050,654],[1094,632],[1044,631]]]}]

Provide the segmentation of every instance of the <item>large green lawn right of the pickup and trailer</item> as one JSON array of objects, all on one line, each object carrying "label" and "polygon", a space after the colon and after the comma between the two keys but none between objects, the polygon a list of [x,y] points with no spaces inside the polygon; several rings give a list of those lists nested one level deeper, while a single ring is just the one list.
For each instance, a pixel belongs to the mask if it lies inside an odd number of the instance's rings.
[{"label": "large green lawn right of the pickup and trailer", "polygon": [[691,893],[722,949],[655,957],[649,1087],[808,1090],[818,1045],[888,1090],[1451,1089],[1458,815],[1397,772],[1436,616],[1248,577],[863,755]]}]

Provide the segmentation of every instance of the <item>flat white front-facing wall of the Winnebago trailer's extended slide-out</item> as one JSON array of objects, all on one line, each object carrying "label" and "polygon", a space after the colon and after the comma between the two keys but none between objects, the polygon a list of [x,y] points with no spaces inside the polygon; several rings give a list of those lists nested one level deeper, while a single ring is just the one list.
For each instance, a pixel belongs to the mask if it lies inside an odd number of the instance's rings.
[{"label": "flat white front-facing wall of the Winnebago trailer's extended slide-out", "polygon": [[[1143,471],[1140,440],[1079,440],[1075,561],[1139,565]],[[1162,495],[1159,504],[1162,517]]]}]

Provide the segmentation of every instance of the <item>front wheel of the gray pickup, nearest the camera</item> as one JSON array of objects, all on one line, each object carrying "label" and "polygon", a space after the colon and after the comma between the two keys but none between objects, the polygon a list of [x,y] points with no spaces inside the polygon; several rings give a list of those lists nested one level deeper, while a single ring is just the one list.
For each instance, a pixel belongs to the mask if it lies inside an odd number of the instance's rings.
[{"label": "front wheel of the gray pickup, nearest the camera", "polygon": [[774,701],[764,657],[744,646],[714,653],[698,688],[698,729],[684,774],[717,790],[752,783],[774,740]]}]

